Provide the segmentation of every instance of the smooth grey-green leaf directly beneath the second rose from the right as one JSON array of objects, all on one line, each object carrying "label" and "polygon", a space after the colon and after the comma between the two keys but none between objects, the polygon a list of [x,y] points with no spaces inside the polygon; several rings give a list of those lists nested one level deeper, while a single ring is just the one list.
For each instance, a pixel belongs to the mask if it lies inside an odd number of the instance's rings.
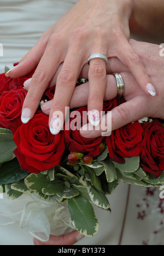
[{"label": "smooth grey-green leaf directly beneath the second rose from the right", "polygon": [[136,172],[139,168],[140,158],[139,156],[125,158],[125,164],[118,164],[117,162],[113,162],[113,164],[122,172]]}]

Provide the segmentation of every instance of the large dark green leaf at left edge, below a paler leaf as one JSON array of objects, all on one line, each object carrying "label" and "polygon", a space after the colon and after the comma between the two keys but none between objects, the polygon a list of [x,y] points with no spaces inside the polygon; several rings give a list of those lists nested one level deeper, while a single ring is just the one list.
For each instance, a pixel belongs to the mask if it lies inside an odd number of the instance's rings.
[{"label": "large dark green leaf at left edge, below a paler leaf", "polygon": [[0,184],[10,184],[21,181],[28,175],[22,171],[16,158],[5,162],[0,168]]}]

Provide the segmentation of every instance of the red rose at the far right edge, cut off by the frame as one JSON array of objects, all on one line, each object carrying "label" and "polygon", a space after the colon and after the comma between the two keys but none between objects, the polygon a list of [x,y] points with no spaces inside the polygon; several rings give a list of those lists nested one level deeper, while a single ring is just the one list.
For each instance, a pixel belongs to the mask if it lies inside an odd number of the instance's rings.
[{"label": "red rose at the far right edge, cut off by the frame", "polygon": [[164,170],[164,128],[157,119],[143,127],[140,165],[144,171],[160,176]]}]

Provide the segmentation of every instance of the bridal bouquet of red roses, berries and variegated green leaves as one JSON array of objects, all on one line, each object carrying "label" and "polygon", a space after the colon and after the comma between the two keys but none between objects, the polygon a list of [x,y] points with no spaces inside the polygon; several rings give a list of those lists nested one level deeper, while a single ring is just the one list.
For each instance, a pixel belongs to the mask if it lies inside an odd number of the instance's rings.
[{"label": "bridal bouquet of red roses, berries and variegated green leaves", "polygon": [[[40,107],[32,120],[21,123],[27,94],[23,84],[32,74],[17,79],[0,75],[0,185],[11,200],[32,194],[67,205],[74,229],[94,236],[98,220],[92,205],[110,211],[106,195],[114,193],[120,181],[143,187],[164,182],[163,122],[145,118],[111,136],[86,139],[79,132],[87,113],[84,106],[72,109],[70,129],[54,136]],[[54,91],[47,89],[42,102],[51,100]],[[107,113],[124,102],[104,102],[103,110]],[[74,111],[80,114],[73,115]]]}]

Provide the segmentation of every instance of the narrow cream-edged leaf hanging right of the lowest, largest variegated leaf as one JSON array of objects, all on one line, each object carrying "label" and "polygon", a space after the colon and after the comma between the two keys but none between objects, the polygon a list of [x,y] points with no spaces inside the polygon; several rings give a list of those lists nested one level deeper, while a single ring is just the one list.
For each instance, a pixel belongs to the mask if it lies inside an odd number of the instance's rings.
[{"label": "narrow cream-edged leaf hanging right of the lowest, largest variegated leaf", "polygon": [[110,208],[106,195],[94,188],[89,181],[86,181],[86,188],[92,203],[105,210]]}]

